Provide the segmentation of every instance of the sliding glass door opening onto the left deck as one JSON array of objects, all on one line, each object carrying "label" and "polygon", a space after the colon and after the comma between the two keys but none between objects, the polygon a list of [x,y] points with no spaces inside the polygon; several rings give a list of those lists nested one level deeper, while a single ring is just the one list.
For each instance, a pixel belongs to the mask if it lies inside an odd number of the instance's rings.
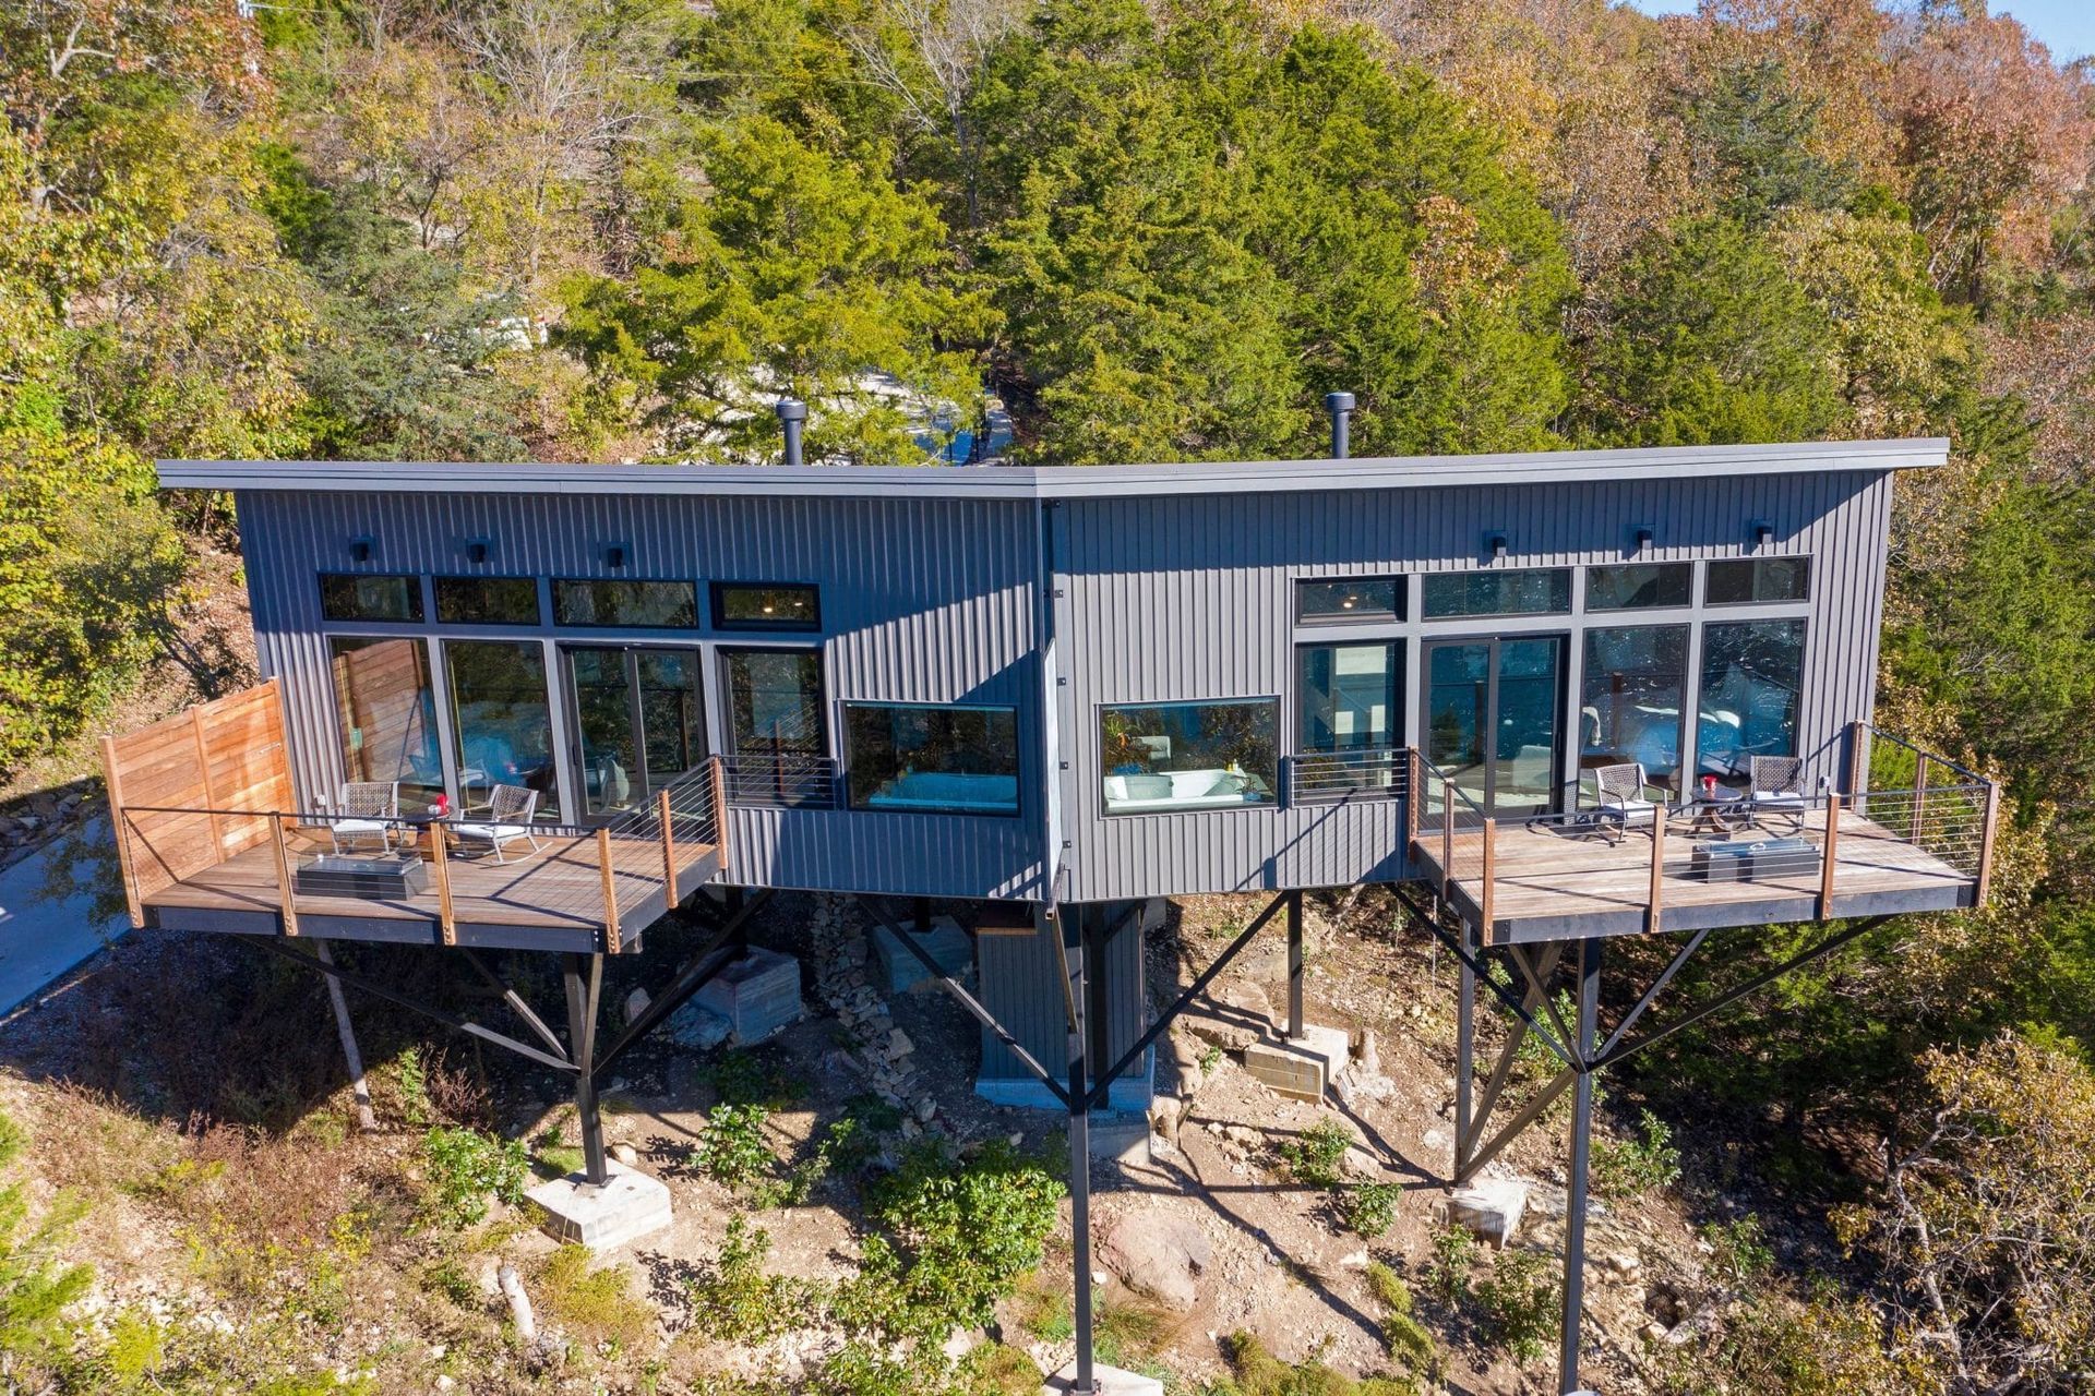
[{"label": "sliding glass door opening onto the left deck", "polygon": [[582,818],[641,810],[706,760],[696,649],[564,645]]}]

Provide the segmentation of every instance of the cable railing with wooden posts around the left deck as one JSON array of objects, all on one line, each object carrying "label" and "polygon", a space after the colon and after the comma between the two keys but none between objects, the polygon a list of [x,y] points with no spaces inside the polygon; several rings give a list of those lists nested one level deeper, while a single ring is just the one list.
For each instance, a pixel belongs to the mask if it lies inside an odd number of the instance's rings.
[{"label": "cable railing with wooden posts around the left deck", "polygon": [[[124,806],[115,825],[136,902],[201,879],[195,896],[272,908],[287,936],[318,900],[356,898],[429,915],[444,944],[469,919],[593,931],[616,954],[641,904],[660,896],[677,906],[702,875],[727,869],[725,789],[712,758],[599,825],[176,806]],[[214,837],[233,823],[253,837]],[[710,866],[698,858],[708,850]],[[205,877],[235,858],[237,875]],[[339,904],[327,915],[341,915]]]}]

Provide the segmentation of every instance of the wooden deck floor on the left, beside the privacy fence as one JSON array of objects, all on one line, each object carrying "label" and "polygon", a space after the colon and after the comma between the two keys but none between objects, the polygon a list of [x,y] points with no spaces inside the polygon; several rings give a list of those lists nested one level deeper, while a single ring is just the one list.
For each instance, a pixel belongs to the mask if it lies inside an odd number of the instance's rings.
[{"label": "wooden deck floor on the left, beside the privacy fence", "polygon": [[[291,833],[291,864],[325,852],[327,841]],[[641,931],[668,908],[662,843],[610,839],[612,887],[618,904],[618,948],[637,950]],[[677,846],[679,898],[689,896],[721,869],[719,848]],[[511,848],[509,862],[450,854],[450,908],[457,940],[450,944],[509,950],[605,950],[603,869],[597,839],[543,839],[536,854]],[[434,871],[434,869],[432,869]],[[193,931],[283,936],[283,890],[277,850],[262,843],[180,881],[145,894],[159,925]],[[318,940],[379,940],[440,946],[442,904],[429,890],[404,900],[352,896],[295,896],[295,933]]]}]

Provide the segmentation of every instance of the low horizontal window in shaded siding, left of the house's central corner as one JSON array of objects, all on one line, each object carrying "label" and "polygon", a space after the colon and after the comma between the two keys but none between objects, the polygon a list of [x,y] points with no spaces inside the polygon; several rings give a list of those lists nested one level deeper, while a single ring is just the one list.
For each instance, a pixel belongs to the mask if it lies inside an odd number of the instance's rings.
[{"label": "low horizontal window in shaded siding, left of the house's central corner", "polygon": [[844,703],[853,810],[1018,814],[1018,710]]}]

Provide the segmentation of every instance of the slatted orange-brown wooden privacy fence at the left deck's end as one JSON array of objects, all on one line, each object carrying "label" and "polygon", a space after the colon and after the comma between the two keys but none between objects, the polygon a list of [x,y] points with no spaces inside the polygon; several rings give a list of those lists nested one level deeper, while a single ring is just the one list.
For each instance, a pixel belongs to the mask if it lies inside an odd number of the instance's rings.
[{"label": "slatted orange-brown wooden privacy fence at the left deck's end", "polygon": [[293,808],[277,680],[103,737],[109,823],[134,927],[145,898],[272,837]]}]

